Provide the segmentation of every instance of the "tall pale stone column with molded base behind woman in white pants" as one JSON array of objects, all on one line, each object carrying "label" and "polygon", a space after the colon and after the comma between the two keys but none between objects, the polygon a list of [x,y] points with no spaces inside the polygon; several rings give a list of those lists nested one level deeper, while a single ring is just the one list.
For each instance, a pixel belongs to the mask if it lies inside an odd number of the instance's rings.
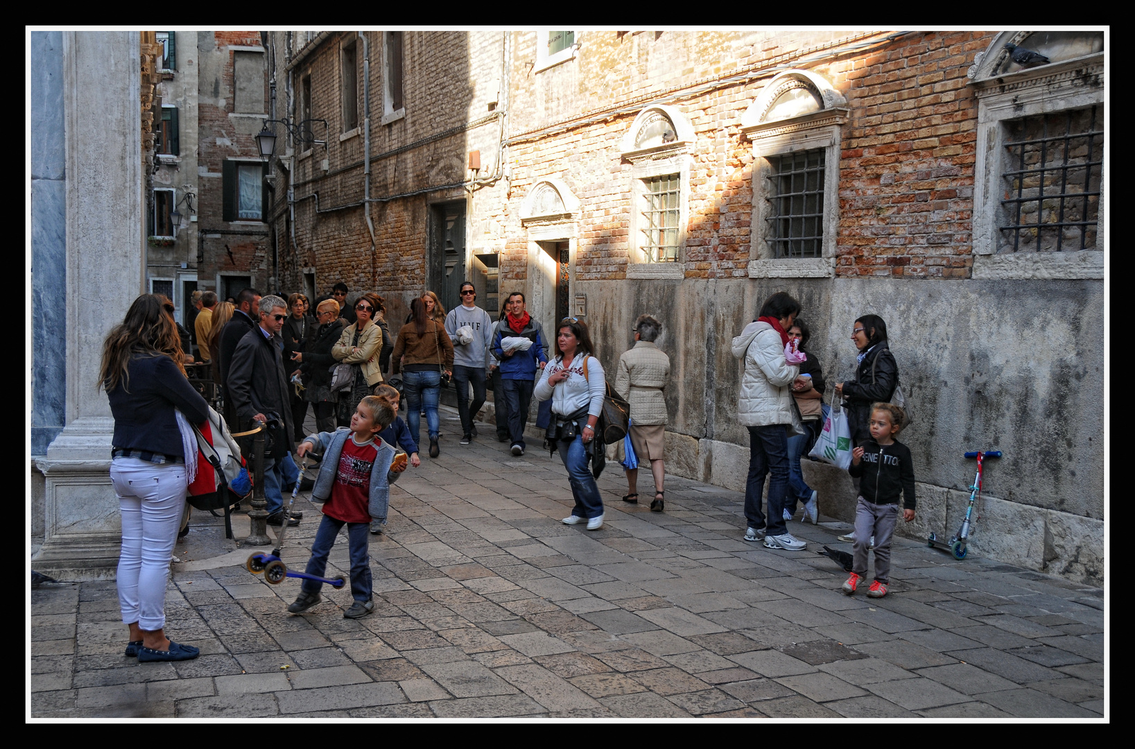
[{"label": "tall pale stone column with molded base behind woman in white pants", "polygon": [[[66,423],[36,461],[45,478],[36,570],[114,578],[121,524],[110,485],[114,419],[98,389],[102,340],[143,291],[145,214],[138,32],[64,32],[66,306],[54,351],[66,360]],[[35,376],[39,376],[39,371]]]}]

